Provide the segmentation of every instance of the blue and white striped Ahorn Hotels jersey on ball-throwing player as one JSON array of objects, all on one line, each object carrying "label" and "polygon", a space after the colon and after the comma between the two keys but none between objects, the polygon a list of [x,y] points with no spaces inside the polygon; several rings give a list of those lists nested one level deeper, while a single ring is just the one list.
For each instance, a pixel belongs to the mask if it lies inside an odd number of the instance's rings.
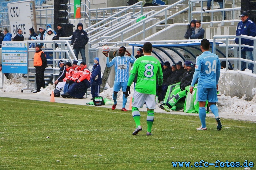
[{"label": "blue and white striped Ahorn Hotels jersey on ball-throwing player", "polygon": [[107,57],[107,67],[115,65],[115,82],[128,82],[129,79],[129,65],[134,63],[135,57],[129,56],[117,56],[114,57],[109,62],[109,57]]}]

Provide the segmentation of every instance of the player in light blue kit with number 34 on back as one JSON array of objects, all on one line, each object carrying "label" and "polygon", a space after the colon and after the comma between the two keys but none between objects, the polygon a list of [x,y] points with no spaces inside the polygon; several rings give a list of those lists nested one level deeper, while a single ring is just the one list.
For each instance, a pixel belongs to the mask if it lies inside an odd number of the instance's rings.
[{"label": "player in light blue kit with number 34 on back", "polygon": [[217,122],[217,130],[222,128],[219,118],[219,111],[216,107],[218,81],[220,78],[220,60],[216,54],[209,51],[210,42],[207,39],[201,41],[201,50],[203,54],[197,57],[195,73],[191,82],[190,93],[193,94],[193,88],[198,78],[197,83],[197,101],[199,101],[199,118],[201,127],[197,130],[207,130],[205,123],[205,102],[208,100],[208,105],[214,114]]}]

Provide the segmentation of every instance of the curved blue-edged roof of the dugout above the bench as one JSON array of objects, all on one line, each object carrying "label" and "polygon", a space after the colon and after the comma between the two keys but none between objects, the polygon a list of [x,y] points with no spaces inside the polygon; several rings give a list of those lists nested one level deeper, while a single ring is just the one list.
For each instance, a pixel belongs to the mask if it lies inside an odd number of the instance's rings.
[{"label": "curved blue-edged roof of the dugout above the bench", "polygon": [[[223,44],[216,42],[216,54],[220,58],[225,58],[225,48],[219,48],[218,44]],[[143,44],[129,43],[130,46],[142,48]],[[210,41],[210,51],[212,51],[213,42]],[[152,44],[153,55],[155,55],[162,63],[169,61],[170,63],[176,63],[178,61],[190,60],[195,63],[196,57],[202,54],[200,48],[200,42],[186,42],[180,44]],[[135,52],[136,53],[136,52]]]}]

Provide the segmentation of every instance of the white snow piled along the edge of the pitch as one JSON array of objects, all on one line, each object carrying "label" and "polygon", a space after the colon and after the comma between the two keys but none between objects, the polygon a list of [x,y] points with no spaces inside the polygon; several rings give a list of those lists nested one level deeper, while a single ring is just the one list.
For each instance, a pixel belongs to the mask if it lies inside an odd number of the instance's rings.
[{"label": "white snow piled along the edge of the pitch", "polygon": [[[223,69],[222,69],[223,72]],[[251,73],[252,74],[252,73]],[[254,74],[253,74],[254,75]],[[233,83],[232,81],[230,84]],[[0,74],[0,87],[2,87],[2,73]],[[0,92],[20,92],[22,88],[27,88],[27,80],[22,77],[22,74],[17,75],[15,78],[8,80],[4,76],[4,85],[0,89]],[[29,88],[34,89],[34,84],[29,83]],[[49,95],[51,91],[54,90],[54,84],[48,85],[45,89],[41,89],[39,93],[35,95]],[[31,90],[24,90],[23,93],[31,93]],[[134,93],[134,85],[131,85],[131,94],[128,97],[127,103],[130,101],[130,96]],[[107,90],[104,90],[100,93],[104,98],[112,99],[113,88],[108,87]],[[256,88],[252,89],[252,94],[256,94]],[[91,97],[89,95],[89,97]],[[238,97],[226,96],[225,92],[220,97],[218,97],[219,102],[217,103],[219,113],[223,114],[236,114],[236,115],[251,115],[256,116],[256,95],[251,101],[244,100],[246,94],[239,99]],[[123,93],[122,91],[118,92],[117,101],[122,101]]]}]

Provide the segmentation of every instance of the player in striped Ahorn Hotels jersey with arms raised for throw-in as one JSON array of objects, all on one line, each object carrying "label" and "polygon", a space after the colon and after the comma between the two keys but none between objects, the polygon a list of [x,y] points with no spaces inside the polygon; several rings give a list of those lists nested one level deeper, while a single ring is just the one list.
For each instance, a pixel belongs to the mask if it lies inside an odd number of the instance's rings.
[{"label": "player in striped Ahorn Hotels jersey with arms raised for throw-in", "polygon": [[[125,51],[128,53],[128,56],[125,56]],[[136,60],[129,51],[126,50],[124,46],[121,46],[118,50],[119,56],[114,57],[111,61],[109,61],[108,53],[104,54],[107,57],[107,67],[112,67],[112,65],[115,65],[115,82],[113,87],[113,100],[114,105],[112,106],[112,110],[115,110],[115,107],[117,105],[117,93],[120,91],[120,88],[122,87],[123,91],[123,106],[121,111],[127,111],[125,109],[125,105],[127,102],[127,96],[125,95],[128,79],[129,79],[129,65],[130,63],[134,63]]]}]

